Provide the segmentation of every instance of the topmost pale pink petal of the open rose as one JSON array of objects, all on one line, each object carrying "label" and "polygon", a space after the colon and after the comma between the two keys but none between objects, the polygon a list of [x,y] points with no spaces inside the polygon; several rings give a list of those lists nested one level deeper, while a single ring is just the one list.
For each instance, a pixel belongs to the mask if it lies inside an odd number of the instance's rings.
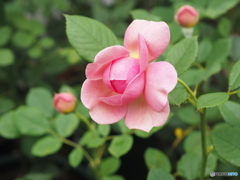
[{"label": "topmost pale pink petal of the open rose", "polygon": [[138,33],[143,36],[149,51],[149,61],[157,59],[167,48],[170,41],[170,30],[165,22],[134,20],[127,28],[124,46],[130,56],[139,55]]}]

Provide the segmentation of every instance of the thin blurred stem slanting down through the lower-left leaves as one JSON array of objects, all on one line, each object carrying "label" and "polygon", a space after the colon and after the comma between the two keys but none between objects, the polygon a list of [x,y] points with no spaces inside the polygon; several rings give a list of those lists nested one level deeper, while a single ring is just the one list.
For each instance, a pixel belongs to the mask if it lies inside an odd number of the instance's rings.
[{"label": "thin blurred stem slanting down through the lower-left leaves", "polygon": [[94,160],[93,160],[92,157],[88,154],[88,152],[83,149],[82,146],[80,146],[79,144],[77,144],[77,143],[75,143],[75,142],[73,142],[73,141],[70,141],[70,140],[68,140],[68,139],[65,139],[64,137],[60,136],[58,133],[56,133],[56,132],[53,131],[52,129],[49,129],[48,132],[49,132],[51,135],[53,135],[53,136],[55,136],[56,138],[58,138],[59,140],[61,140],[63,143],[65,143],[65,144],[67,144],[67,145],[69,145],[69,146],[72,146],[72,147],[77,148],[78,150],[80,150],[80,151],[84,154],[84,156],[86,157],[86,159],[89,161],[89,163],[91,164],[91,167],[92,167],[93,169],[95,169],[95,162],[94,162]]}]

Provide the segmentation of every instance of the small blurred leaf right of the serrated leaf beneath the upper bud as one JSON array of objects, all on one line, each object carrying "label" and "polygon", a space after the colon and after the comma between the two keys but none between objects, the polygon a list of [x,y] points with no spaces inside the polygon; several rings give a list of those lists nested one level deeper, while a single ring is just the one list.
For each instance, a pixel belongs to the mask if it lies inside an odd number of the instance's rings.
[{"label": "small blurred leaf right of the serrated leaf beneath the upper bud", "polygon": [[206,61],[206,57],[212,51],[212,43],[209,39],[203,39],[199,43],[197,61],[202,63]]}]

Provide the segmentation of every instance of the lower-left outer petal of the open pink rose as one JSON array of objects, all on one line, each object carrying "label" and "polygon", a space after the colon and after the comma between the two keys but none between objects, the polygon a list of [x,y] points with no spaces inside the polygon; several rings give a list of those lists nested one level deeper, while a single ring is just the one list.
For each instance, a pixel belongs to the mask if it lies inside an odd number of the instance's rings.
[{"label": "lower-left outer petal of the open pink rose", "polygon": [[98,124],[112,124],[126,115],[127,106],[111,106],[98,101],[90,110],[91,118]]}]

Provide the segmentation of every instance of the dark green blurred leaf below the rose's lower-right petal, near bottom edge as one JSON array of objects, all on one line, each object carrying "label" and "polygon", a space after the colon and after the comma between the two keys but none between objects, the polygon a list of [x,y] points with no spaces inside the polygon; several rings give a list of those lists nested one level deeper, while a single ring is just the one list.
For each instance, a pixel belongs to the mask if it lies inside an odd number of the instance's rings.
[{"label": "dark green blurred leaf below the rose's lower-right petal, near bottom edge", "polygon": [[148,169],[162,168],[168,173],[171,172],[171,163],[168,157],[158,149],[147,148],[144,160]]}]

